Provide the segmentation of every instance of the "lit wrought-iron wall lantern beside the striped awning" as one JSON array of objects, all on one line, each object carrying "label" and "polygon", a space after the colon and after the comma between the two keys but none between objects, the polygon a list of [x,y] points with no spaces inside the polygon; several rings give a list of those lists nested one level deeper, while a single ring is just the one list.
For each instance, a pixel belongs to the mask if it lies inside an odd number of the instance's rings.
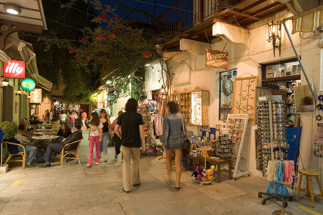
[{"label": "lit wrought-iron wall lantern beside the striped awning", "polygon": [[279,50],[279,56],[281,51],[281,22],[277,21],[276,23],[272,20],[271,23],[268,23],[268,39],[267,41],[273,44],[274,48],[274,57],[275,49]]}]

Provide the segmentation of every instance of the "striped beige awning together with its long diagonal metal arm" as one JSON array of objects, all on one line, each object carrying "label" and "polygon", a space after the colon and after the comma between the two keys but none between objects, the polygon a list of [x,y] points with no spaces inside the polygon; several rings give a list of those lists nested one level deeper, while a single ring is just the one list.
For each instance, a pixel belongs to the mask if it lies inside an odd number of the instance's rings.
[{"label": "striped beige awning together with its long diagonal metal arm", "polygon": [[289,31],[287,29],[287,26],[285,23],[287,20],[292,20],[292,22],[293,22],[292,34],[294,34],[296,32],[315,31],[318,27],[323,25],[323,5],[320,5],[318,7],[312,8],[308,11],[303,12],[303,13],[300,13],[300,14],[297,14],[297,15],[294,15],[294,16],[291,16],[291,17],[288,17],[288,18],[282,20],[282,24],[285,28],[288,39],[293,47],[293,50],[295,52],[295,55],[296,55],[297,60],[299,62],[299,65],[300,65],[300,67],[303,71],[303,74],[305,76],[305,79],[307,81],[307,85],[311,90],[314,100],[316,101],[317,99],[316,99],[315,93],[313,91],[313,87],[308,80],[307,74],[306,74],[303,64],[301,62],[301,59],[299,58],[299,55],[297,53],[297,50],[296,50],[296,47],[295,47],[294,42],[292,40],[292,37],[290,36]]}]

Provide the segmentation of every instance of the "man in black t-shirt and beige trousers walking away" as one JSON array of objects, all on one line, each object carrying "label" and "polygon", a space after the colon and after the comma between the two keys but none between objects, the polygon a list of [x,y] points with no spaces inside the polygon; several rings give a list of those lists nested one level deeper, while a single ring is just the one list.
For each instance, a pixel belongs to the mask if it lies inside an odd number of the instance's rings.
[{"label": "man in black t-shirt and beige trousers walking away", "polygon": [[[130,98],[125,105],[125,113],[122,113],[114,128],[114,133],[121,139],[121,149],[123,156],[122,190],[129,193],[130,191],[130,161],[132,154],[132,185],[140,185],[139,175],[139,156],[142,140],[142,150],[146,150],[145,132],[143,130],[143,120],[141,114],[137,113],[138,103],[134,98]],[[119,127],[121,126],[121,133]]]}]

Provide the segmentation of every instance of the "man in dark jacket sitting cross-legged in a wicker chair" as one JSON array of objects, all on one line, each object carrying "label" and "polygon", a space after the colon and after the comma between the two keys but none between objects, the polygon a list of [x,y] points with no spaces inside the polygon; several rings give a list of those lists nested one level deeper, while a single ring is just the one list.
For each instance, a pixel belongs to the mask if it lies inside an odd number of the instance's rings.
[{"label": "man in dark jacket sitting cross-legged in a wicker chair", "polygon": [[[83,138],[83,135],[81,130],[81,124],[79,122],[76,122],[74,124],[74,132],[71,135],[69,135],[68,138],[64,138],[63,136],[60,136],[54,141],[54,143],[49,144],[47,146],[46,154],[44,156],[44,160],[46,160],[46,163],[38,167],[40,168],[50,167],[50,160],[52,158],[53,152],[59,154],[63,150],[64,145],[75,142],[82,138]],[[65,148],[65,151],[72,151],[77,147],[78,147],[78,142],[68,145]]]}]

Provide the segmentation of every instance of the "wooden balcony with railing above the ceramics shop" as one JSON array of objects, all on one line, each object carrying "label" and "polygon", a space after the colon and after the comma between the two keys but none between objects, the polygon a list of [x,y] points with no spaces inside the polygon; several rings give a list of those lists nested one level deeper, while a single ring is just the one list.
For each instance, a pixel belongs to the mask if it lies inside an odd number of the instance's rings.
[{"label": "wooden balcony with railing above the ceramics shop", "polygon": [[157,32],[167,42],[163,49],[180,51],[182,38],[208,43],[215,37],[212,26],[221,21],[245,28],[287,9],[277,0],[229,0],[223,8],[219,0],[177,0],[157,16]]}]

